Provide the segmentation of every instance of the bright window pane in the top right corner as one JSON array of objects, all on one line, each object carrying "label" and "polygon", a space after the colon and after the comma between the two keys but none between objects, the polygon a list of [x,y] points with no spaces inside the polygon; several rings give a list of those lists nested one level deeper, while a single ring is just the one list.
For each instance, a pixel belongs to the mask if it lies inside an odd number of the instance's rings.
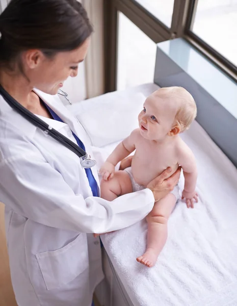
[{"label": "bright window pane in the top right corner", "polygon": [[237,0],[198,0],[191,31],[237,66]]}]

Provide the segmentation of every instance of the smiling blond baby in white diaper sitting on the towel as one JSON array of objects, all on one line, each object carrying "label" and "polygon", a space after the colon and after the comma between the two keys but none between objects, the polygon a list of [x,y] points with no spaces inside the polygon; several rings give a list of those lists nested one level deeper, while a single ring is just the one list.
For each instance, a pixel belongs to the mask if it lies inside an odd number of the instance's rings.
[{"label": "smiling blond baby in white diaper sitting on the towel", "polygon": [[[101,197],[109,201],[122,194],[146,188],[167,167],[182,167],[185,188],[182,198],[187,207],[198,201],[195,191],[197,167],[193,152],[179,137],[195,119],[197,108],[192,95],[182,87],[161,88],[147,97],[138,116],[139,129],[134,130],[112,152],[100,169]],[[136,150],[131,167],[116,171],[119,161]],[[155,202],[147,216],[147,248],[137,261],[152,267],[167,240],[168,218],[179,199],[179,188]]]}]

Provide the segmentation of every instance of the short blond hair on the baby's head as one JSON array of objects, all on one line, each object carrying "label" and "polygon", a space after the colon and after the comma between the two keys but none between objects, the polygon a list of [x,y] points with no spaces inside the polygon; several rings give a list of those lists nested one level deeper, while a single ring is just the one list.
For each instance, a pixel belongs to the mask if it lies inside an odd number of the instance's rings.
[{"label": "short blond hair on the baby's head", "polygon": [[190,124],[197,116],[197,106],[193,96],[183,87],[164,87],[159,89],[159,94],[168,95],[169,99],[175,99],[179,107],[175,115],[174,124],[180,126],[180,133],[189,129]]}]

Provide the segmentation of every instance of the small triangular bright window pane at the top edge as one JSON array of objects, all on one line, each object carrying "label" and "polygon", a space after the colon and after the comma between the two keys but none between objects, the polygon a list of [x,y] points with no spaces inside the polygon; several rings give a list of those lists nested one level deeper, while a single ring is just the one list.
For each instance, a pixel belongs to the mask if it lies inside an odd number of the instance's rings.
[{"label": "small triangular bright window pane at the top edge", "polygon": [[136,0],[136,2],[160,19],[168,28],[171,27],[174,0]]}]

